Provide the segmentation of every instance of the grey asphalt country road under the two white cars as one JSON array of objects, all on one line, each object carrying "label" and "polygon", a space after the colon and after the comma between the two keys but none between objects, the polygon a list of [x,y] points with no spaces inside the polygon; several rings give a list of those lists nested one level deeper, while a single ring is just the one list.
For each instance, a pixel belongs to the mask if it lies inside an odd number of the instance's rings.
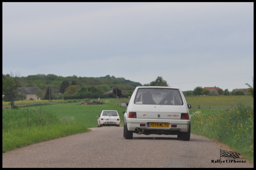
[{"label": "grey asphalt country road under the two white cars", "polygon": [[220,157],[220,149],[232,150],[194,134],[190,141],[137,134],[128,140],[123,127],[91,129],[3,153],[3,168],[253,168],[241,156]]}]

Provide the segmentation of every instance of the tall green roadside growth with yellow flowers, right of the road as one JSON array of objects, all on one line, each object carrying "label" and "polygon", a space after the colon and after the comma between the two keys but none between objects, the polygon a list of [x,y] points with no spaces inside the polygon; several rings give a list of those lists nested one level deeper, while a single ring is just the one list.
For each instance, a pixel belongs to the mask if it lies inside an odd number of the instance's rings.
[{"label": "tall green roadside growth with yellow flowers, right of the road", "polygon": [[216,114],[201,111],[191,113],[191,132],[216,139],[229,145],[245,158],[253,160],[253,107],[241,103],[234,109],[226,109]]}]

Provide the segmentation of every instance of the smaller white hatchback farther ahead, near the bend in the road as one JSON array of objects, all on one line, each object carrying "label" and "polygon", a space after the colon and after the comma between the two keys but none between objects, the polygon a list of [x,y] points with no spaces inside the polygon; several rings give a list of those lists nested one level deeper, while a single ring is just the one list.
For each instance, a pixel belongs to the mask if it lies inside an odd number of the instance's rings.
[{"label": "smaller white hatchback farther ahead, near the bend in the road", "polygon": [[98,127],[120,126],[120,117],[116,110],[103,110],[98,117]]}]

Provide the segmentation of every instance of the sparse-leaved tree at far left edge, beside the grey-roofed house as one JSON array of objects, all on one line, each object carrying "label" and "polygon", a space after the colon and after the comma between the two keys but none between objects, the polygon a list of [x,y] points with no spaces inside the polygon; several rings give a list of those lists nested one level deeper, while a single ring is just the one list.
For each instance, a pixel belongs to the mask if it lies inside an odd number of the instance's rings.
[{"label": "sparse-leaved tree at far left edge, beside the grey-roofed house", "polygon": [[14,107],[15,98],[19,95],[21,90],[20,73],[11,72],[10,74],[3,74],[2,93],[4,95],[3,100],[11,103],[11,107]]}]

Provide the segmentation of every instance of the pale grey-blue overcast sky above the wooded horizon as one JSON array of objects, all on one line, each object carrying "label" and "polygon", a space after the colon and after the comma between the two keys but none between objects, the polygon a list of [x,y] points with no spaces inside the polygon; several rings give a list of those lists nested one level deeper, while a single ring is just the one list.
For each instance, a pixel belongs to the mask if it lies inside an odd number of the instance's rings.
[{"label": "pale grey-blue overcast sky above the wooded horizon", "polygon": [[253,86],[253,2],[3,2],[3,74]]}]

